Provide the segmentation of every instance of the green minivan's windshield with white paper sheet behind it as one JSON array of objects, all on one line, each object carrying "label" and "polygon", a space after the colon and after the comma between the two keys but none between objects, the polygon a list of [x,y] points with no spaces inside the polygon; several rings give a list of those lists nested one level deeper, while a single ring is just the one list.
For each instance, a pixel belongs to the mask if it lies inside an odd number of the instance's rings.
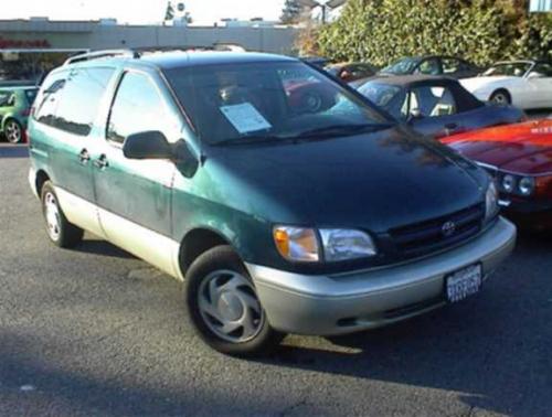
[{"label": "green minivan's windshield with white paper sheet behind it", "polygon": [[211,145],[339,137],[392,124],[302,63],[247,63],[166,72],[201,138]]}]

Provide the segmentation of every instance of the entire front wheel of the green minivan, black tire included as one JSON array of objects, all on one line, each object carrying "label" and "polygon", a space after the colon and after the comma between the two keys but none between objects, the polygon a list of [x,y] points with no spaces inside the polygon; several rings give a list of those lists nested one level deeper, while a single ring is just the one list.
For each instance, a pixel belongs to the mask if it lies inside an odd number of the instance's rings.
[{"label": "entire front wheel of the green minivan, black tire included", "polygon": [[253,281],[230,246],[195,259],[185,275],[184,302],[194,330],[219,352],[258,355],[283,339],[270,328]]}]

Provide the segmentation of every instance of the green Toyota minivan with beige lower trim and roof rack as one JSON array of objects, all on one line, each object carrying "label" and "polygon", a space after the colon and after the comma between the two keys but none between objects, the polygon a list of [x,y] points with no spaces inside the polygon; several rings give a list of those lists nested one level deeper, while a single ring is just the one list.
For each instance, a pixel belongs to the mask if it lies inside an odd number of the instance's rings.
[{"label": "green Toyota minivan with beige lower trim and roof rack", "polygon": [[50,239],[87,231],[183,280],[227,354],[463,300],[516,242],[484,170],[290,57],[79,55],[29,136]]}]

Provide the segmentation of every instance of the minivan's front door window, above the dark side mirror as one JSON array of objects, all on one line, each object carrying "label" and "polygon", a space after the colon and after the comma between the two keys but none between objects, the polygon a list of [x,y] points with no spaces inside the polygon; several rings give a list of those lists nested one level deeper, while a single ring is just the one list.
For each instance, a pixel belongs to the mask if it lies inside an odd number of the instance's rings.
[{"label": "minivan's front door window, above the dark side mirror", "polygon": [[169,124],[164,110],[164,101],[147,75],[126,73],[112,106],[107,139],[123,143],[132,133],[164,131]]}]

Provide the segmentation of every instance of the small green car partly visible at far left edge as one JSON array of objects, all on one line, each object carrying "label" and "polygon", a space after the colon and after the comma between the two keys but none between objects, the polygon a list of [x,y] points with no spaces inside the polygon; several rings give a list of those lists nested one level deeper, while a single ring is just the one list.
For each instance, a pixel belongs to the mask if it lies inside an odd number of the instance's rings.
[{"label": "small green car partly visible at far left edge", "polygon": [[0,88],[0,128],[10,143],[25,140],[26,120],[38,87]]}]

